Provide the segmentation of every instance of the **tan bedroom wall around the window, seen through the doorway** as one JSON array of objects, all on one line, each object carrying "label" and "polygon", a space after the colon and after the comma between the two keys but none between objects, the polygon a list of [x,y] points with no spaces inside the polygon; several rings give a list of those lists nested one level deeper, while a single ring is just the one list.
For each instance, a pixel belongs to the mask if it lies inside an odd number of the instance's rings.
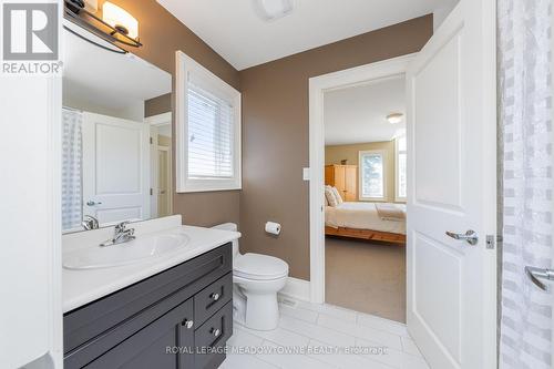
[{"label": "tan bedroom wall around the window, seen through the doorway", "polygon": [[[340,164],[340,161],[346,158],[348,164],[359,165],[359,152],[369,150],[382,150],[384,156],[384,183],[386,183],[386,202],[393,203],[396,199],[396,183],[394,183],[394,141],[370,142],[363,144],[351,145],[332,145],[325,146],[325,164]],[[358,194],[359,194],[358,189]]]}]

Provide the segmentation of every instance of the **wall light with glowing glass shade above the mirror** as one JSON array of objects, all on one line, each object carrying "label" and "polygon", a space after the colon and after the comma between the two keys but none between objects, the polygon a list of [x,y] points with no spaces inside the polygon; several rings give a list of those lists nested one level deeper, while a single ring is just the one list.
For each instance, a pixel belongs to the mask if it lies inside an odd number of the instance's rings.
[{"label": "wall light with glowing glass shade above the mirror", "polygon": [[63,27],[76,37],[102,49],[123,54],[127,53],[127,51],[121,45],[132,48],[142,47],[142,43],[138,41],[138,21],[114,3],[110,1],[104,2],[102,6],[102,19],[89,11],[83,0],[64,0],[64,6],[65,19],[94,33],[104,41],[112,43],[116,49],[106,48],[65,25]]}]

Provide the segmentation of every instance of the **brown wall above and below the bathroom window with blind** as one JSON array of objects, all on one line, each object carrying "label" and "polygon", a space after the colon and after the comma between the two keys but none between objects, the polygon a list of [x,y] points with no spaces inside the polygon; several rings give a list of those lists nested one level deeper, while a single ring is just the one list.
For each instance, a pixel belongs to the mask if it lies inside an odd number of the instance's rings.
[{"label": "brown wall above and below the bathroom window with blind", "polygon": [[[131,52],[175,75],[175,51],[182,50],[235,89],[239,89],[238,72],[155,0],[110,1],[138,20],[138,35],[144,45],[140,49],[130,48]],[[99,1],[99,9],[102,9],[102,3],[104,0]],[[175,214],[182,214],[184,222],[191,225],[238,223],[239,193],[175,194],[173,209]]]}]

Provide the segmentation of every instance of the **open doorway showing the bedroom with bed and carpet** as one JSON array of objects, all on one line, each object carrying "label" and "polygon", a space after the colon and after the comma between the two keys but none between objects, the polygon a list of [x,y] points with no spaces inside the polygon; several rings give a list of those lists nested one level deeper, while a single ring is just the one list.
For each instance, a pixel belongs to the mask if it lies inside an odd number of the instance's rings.
[{"label": "open doorway showing the bedroom with bed and carpet", "polygon": [[324,92],[325,300],[399,322],[406,322],[404,117],[403,74]]}]

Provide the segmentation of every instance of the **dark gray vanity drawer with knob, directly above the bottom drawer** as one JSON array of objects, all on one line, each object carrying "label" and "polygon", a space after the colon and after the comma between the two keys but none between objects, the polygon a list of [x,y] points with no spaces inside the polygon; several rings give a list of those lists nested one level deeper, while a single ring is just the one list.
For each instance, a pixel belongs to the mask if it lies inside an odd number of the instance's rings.
[{"label": "dark gray vanity drawer with knob, directly above the bottom drawer", "polygon": [[233,297],[233,271],[194,296],[194,321],[198,326]]}]

